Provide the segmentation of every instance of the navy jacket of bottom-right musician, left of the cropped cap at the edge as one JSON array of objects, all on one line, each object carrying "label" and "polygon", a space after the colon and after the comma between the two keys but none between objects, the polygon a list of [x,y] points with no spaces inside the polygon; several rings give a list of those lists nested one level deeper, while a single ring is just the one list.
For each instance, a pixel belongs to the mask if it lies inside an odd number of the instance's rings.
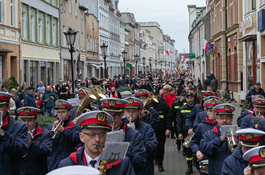
[{"label": "navy jacket of bottom-right musician, left of the cropped cap at the edge", "polygon": [[243,159],[241,146],[238,146],[232,155],[228,156],[222,167],[222,175],[242,175],[248,166],[248,161]]}]

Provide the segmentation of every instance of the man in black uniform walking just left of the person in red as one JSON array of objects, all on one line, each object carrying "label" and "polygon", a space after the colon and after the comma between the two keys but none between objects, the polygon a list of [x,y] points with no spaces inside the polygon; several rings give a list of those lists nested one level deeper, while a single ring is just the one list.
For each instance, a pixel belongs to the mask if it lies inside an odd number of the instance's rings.
[{"label": "man in black uniform walking just left of the person in red", "polygon": [[158,141],[157,153],[155,156],[155,163],[158,164],[158,170],[160,172],[164,171],[163,160],[165,153],[165,142],[166,136],[170,135],[172,117],[169,116],[170,108],[164,99],[160,96],[158,89],[153,89],[152,93],[158,99],[159,103],[152,102],[149,107],[155,109],[159,113],[160,122],[158,128],[155,129],[156,138]]}]

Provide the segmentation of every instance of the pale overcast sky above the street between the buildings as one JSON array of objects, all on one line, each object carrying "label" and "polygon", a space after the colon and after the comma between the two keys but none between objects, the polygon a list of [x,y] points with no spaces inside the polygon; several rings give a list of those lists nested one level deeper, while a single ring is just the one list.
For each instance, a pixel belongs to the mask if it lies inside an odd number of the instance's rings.
[{"label": "pale overcast sky above the street between the buildings", "polygon": [[131,12],[137,22],[157,21],[164,34],[173,38],[179,53],[189,52],[187,5],[205,6],[205,0],[120,0],[120,12]]}]

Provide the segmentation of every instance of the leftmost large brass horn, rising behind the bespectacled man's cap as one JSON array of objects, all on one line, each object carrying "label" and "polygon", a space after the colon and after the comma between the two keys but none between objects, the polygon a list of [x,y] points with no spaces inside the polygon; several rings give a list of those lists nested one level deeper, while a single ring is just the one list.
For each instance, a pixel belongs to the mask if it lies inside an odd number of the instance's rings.
[{"label": "leftmost large brass horn, rising behind the bespectacled man's cap", "polygon": [[75,119],[80,116],[84,111],[89,112],[90,110],[86,108],[87,105],[91,105],[91,102],[97,99],[95,95],[91,94],[88,90],[83,89],[83,91],[85,92],[86,97],[83,99],[82,103],[78,105],[78,108],[75,113]]}]

